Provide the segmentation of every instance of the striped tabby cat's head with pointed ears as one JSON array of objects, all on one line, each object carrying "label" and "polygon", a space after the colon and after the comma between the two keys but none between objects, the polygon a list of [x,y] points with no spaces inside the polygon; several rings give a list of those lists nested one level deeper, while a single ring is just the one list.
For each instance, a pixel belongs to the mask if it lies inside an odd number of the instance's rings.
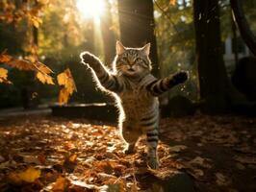
[{"label": "striped tabby cat's head with pointed ears", "polygon": [[148,58],[150,44],[142,48],[126,48],[116,42],[115,68],[119,74],[128,77],[140,77],[151,71],[151,61]]}]

